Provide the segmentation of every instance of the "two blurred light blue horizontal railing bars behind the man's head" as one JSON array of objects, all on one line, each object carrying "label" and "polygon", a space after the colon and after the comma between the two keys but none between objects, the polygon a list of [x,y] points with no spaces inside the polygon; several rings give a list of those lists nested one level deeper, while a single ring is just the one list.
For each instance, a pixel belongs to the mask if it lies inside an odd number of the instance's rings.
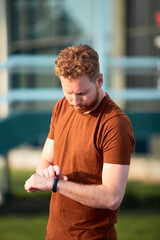
[{"label": "two blurred light blue horizontal railing bars behind the man's head", "polygon": [[[15,55],[10,56],[6,62],[1,62],[0,70],[27,67],[31,71],[34,68],[53,69],[56,56],[50,55]],[[110,68],[124,69],[154,69],[158,72],[160,68],[160,58],[154,57],[122,57],[107,58],[106,66]],[[157,74],[158,75],[158,74]],[[107,81],[106,81],[107,82]],[[115,100],[141,101],[160,100],[160,90],[158,88],[123,88],[108,89],[104,83],[104,90]],[[32,88],[32,89],[9,89],[6,94],[0,95],[0,104],[4,102],[33,102],[33,101],[57,101],[63,96],[61,88]]]}]

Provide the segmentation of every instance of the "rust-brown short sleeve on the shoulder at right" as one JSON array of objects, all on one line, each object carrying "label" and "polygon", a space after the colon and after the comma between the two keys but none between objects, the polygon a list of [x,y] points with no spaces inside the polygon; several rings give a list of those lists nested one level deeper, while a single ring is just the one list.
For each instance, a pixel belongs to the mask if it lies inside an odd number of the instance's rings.
[{"label": "rust-brown short sleeve on the shoulder at right", "polygon": [[133,130],[129,120],[114,117],[104,129],[102,151],[104,163],[129,165],[134,149]]}]

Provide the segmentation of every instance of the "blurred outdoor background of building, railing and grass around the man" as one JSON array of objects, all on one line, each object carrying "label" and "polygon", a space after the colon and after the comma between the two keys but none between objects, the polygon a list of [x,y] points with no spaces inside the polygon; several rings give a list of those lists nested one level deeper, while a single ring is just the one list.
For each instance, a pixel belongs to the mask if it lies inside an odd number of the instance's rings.
[{"label": "blurred outdoor background of building, railing and grass around the man", "polygon": [[[89,44],[104,90],[135,134],[118,239],[160,234],[160,0],[0,0],[0,232],[2,240],[44,239],[48,193],[29,195],[54,104],[60,50]],[[7,229],[10,229],[8,231]]]}]

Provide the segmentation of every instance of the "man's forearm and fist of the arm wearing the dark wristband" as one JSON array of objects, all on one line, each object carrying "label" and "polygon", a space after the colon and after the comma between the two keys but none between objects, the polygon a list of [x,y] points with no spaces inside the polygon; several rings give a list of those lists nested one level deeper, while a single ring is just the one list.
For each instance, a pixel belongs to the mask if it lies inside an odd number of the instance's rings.
[{"label": "man's forearm and fist of the arm wearing the dark wristband", "polygon": [[[67,181],[67,177],[60,175],[57,192],[84,205],[94,208],[115,210],[123,198],[120,187],[111,188],[106,185],[84,185]],[[63,179],[63,180],[60,180]],[[50,191],[53,188],[53,178],[38,174],[32,175],[25,183],[28,192],[35,190]]]}]

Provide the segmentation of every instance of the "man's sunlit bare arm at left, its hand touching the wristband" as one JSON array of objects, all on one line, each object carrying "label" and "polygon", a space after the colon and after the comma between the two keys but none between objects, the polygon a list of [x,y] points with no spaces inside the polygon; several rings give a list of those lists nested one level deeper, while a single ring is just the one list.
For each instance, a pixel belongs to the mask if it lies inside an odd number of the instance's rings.
[{"label": "man's sunlit bare arm at left, its hand touching the wristband", "polygon": [[44,175],[44,169],[47,169],[50,165],[53,165],[54,160],[54,140],[47,138],[44,144],[40,160],[38,162],[36,173]]}]

